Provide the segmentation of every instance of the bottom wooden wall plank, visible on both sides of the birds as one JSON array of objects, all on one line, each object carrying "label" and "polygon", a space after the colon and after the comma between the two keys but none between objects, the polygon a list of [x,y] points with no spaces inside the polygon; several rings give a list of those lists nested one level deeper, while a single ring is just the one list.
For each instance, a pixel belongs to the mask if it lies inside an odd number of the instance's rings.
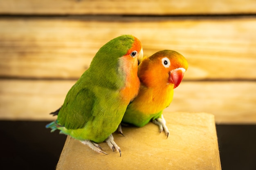
[{"label": "bottom wooden wall plank, visible on both sides of the birds", "polygon": [[[54,120],[75,81],[0,80],[0,119]],[[165,112],[207,112],[217,123],[256,123],[256,82],[182,82]],[[167,114],[167,113],[166,113]],[[165,115],[165,113],[164,113]]]}]

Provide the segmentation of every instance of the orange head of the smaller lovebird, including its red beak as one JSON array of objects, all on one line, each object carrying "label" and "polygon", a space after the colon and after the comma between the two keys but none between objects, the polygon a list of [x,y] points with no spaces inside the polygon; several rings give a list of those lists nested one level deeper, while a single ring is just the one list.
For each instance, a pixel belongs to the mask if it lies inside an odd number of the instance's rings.
[{"label": "orange head of the smaller lovebird, including its red beak", "polygon": [[139,65],[138,77],[142,84],[159,88],[166,85],[179,86],[188,68],[186,59],[175,51],[159,51],[144,59]]}]

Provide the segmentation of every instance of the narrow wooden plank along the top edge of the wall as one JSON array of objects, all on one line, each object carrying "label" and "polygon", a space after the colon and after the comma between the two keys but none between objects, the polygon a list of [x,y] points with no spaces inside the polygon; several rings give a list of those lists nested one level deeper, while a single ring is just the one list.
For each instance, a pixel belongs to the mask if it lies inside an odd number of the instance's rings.
[{"label": "narrow wooden plank along the top edge of the wall", "polygon": [[187,15],[256,13],[254,0],[1,0],[0,14]]}]

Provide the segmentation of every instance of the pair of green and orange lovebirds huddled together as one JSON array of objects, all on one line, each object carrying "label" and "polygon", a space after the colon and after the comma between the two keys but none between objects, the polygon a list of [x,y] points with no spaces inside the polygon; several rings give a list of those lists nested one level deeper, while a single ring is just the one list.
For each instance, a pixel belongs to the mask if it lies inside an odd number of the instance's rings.
[{"label": "pair of green and orange lovebirds huddled together", "polygon": [[170,105],[173,89],[187,68],[180,53],[163,50],[143,57],[141,42],[132,35],[121,35],[99,49],[64,104],[52,113],[58,115],[57,120],[46,127],[99,153],[107,154],[99,146],[106,141],[120,156],[112,133],[122,132],[121,121],[139,127],[153,121],[168,137],[162,111]]}]

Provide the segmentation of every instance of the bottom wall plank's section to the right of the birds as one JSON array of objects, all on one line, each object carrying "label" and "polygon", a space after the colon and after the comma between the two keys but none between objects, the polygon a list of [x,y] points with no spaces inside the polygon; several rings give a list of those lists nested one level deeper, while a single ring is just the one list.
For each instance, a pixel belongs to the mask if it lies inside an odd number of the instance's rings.
[{"label": "bottom wall plank's section to the right of the birds", "polygon": [[207,112],[217,123],[256,123],[256,82],[182,82],[165,111]]}]

